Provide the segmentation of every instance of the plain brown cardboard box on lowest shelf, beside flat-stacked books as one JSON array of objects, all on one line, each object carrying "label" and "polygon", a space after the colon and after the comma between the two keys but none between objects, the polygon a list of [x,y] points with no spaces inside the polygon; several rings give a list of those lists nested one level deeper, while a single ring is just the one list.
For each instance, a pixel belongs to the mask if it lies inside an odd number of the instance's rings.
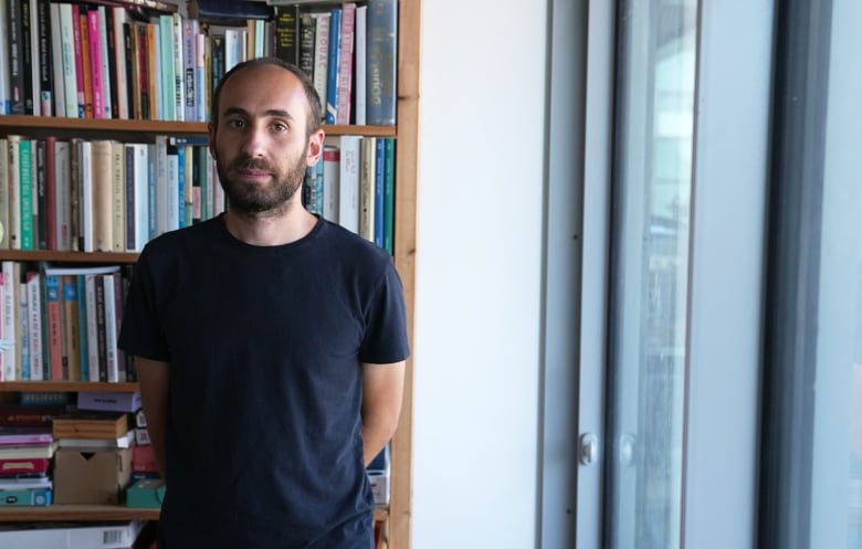
[{"label": "plain brown cardboard box on lowest shelf, beside flat-stacked books", "polygon": [[132,450],[60,448],[54,454],[54,503],[119,505],[132,478]]}]

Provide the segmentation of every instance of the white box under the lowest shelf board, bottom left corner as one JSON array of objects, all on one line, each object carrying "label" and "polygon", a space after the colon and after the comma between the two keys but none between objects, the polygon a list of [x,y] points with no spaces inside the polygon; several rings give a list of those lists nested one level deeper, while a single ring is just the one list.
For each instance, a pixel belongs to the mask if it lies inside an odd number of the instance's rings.
[{"label": "white box under the lowest shelf board, bottom left corner", "polygon": [[143,528],[143,520],[120,525],[60,528],[36,524],[27,529],[22,529],[21,525],[1,525],[0,549],[130,549]]}]

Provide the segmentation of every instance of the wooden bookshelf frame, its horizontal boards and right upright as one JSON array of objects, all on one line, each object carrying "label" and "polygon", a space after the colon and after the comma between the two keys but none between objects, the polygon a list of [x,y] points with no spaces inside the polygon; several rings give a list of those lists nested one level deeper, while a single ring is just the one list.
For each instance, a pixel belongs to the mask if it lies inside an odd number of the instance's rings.
[{"label": "wooden bookshelf frame, its horizontal boards and right upright", "polygon": [[[297,2],[298,3],[298,2]],[[302,1],[301,3],[308,3]],[[320,1],[316,3],[334,3]],[[408,313],[408,336],[413,341],[416,292],[416,214],[419,172],[421,0],[400,0],[398,13],[398,98],[396,126],[325,126],[327,136],[361,135],[396,138],[396,197],[393,261],[401,275]],[[124,141],[147,139],[154,135],[207,135],[204,123],[135,119],[78,119],[0,115],[0,136],[23,134],[32,137],[108,137]],[[52,252],[0,250],[0,261],[52,261],[75,264],[130,264],[137,254],[108,252]],[[387,509],[378,509],[375,520],[386,522],[386,543],[390,549],[408,549],[411,531],[412,495],[412,357],[408,359],[403,408],[391,442],[391,494]],[[13,381],[0,382],[0,393],[134,391],[136,383]],[[0,507],[0,521],[35,520],[155,520],[158,511],[117,506],[53,505],[43,508]]]}]

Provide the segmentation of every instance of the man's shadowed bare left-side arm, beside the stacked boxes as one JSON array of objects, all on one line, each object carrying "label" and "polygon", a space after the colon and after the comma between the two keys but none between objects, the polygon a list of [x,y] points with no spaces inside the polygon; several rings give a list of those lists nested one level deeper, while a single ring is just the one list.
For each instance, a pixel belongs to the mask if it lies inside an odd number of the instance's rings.
[{"label": "man's shadowed bare left-side arm, beside the stacked boxes", "polygon": [[168,418],[168,388],[170,369],[167,362],[135,357],[135,370],[140,386],[140,400],[147,418],[149,434],[161,479],[167,484],[167,457],[165,454],[165,431]]}]

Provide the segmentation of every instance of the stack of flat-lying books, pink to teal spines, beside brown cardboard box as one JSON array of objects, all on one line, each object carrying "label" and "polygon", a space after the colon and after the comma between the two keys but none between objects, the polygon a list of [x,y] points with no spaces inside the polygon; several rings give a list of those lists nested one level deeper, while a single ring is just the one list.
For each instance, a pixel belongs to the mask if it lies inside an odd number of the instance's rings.
[{"label": "stack of flat-lying books, pink to teal spines, beside brown cardboard box", "polygon": [[0,505],[51,505],[49,464],[55,450],[50,430],[0,426]]}]

